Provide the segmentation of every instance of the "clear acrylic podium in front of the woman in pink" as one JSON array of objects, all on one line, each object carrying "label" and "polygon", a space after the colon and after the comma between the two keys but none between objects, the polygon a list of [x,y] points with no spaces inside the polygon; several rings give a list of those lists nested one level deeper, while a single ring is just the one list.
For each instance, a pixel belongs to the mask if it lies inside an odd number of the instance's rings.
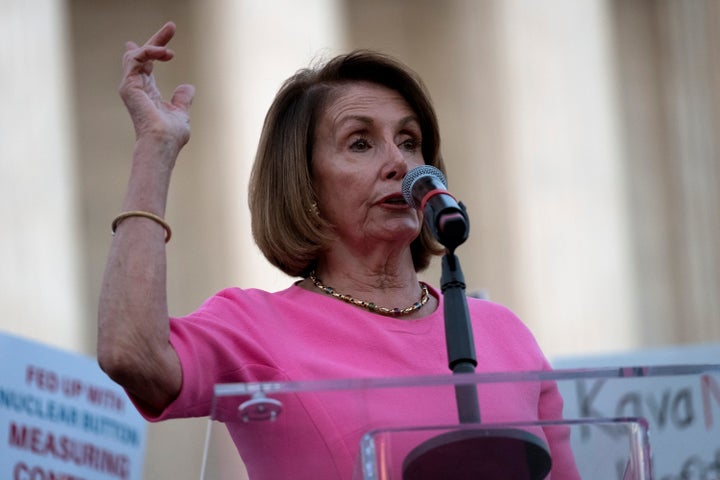
[{"label": "clear acrylic podium in front of the woman in pink", "polygon": [[[512,404],[515,393],[549,384],[563,397],[558,418],[483,414],[484,402]],[[457,391],[468,386],[479,393],[480,423],[457,419]],[[426,422],[428,408],[443,413]],[[308,411],[331,420],[308,419]],[[337,422],[339,430],[347,431],[338,431],[337,438],[318,448],[305,440],[309,435],[304,431],[316,421]],[[466,478],[453,476],[454,467],[468,457],[489,456],[492,464],[494,456],[509,454],[512,446],[495,441],[509,432],[538,439],[540,447],[546,438],[569,434],[582,479],[718,480],[720,364],[216,385],[202,479],[247,478],[228,431],[244,442],[262,444],[254,447],[263,461],[282,461],[275,457],[277,444],[285,445],[284,455],[296,455],[295,474],[276,478],[305,478],[303,468],[327,462],[320,457],[334,455],[328,453],[332,446],[353,457],[352,471],[342,478]],[[348,438],[354,445],[341,445]],[[432,456],[425,455],[428,450]],[[448,460],[439,462],[442,470],[434,470],[438,455]],[[526,446],[519,455],[523,458],[517,464],[525,465],[533,453]],[[513,473],[492,478],[534,477]]]}]

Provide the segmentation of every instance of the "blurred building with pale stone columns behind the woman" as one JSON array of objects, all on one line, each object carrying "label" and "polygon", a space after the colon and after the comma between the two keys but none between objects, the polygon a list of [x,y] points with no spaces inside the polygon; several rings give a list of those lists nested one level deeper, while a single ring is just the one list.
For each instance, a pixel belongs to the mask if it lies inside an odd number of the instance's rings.
[{"label": "blurred building with pale stone columns behind the woman", "polygon": [[[293,281],[250,236],[260,125],[295,70],[363,47],[424,78],[471,217],[469,289],[551,358],[720,341],[718,0],[1,0],[0,329],[94,353],[134,140],[124,42],[166,20],[161,89],[197,87],[167,215],[172,314]],[[196,478],[204,433],[153,426],[147,478]]]}]

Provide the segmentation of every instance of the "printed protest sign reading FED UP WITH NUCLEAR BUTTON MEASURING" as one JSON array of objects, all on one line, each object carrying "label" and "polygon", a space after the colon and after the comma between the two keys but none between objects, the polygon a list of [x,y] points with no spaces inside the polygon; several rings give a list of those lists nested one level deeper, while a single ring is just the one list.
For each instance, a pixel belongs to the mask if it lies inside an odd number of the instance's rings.
[{"label": "printed protest sign reading FED UP WITH NUCLEAR BUTTON MEASURING", "polygon": [[145,433],[94,358],[0,332],[0,478],[140,480]]}]

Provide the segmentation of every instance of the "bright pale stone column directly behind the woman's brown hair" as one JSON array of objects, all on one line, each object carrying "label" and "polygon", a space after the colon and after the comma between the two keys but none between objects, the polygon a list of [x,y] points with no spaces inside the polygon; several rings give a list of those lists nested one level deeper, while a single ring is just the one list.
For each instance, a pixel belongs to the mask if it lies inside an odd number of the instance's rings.
[{"label": "bright pale stone column directly behind the woman's brown hair", "polygon": [[[199,86],[193,110],[193,152],[204,190],[218,203],[202,213],[223,239],[229,281],[278,290],[295,279],[271,266],[250,231],[247,187],[265,114],[283,81],[343,45],[336,0],[197,1],[193,45]],[[216,230],[217,229],[217,230]],[[204,237],[204,235],[203,235]],[[206,241],[206,240],[203,240]]]}]

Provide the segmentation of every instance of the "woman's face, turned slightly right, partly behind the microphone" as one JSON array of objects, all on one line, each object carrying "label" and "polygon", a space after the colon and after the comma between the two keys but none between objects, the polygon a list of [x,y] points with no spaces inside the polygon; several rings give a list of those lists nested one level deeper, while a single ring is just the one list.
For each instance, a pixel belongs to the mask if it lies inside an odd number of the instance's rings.
[{"label": "woman's face, turned slightly right, partly behind the microphone", "polygon": [[417,116],[394,90],[357,82],[342,87],[318,120],[312,175],[318,207],[341,242],[410,244],[422,215],[405,203],[402,180],[423,165]]}]

